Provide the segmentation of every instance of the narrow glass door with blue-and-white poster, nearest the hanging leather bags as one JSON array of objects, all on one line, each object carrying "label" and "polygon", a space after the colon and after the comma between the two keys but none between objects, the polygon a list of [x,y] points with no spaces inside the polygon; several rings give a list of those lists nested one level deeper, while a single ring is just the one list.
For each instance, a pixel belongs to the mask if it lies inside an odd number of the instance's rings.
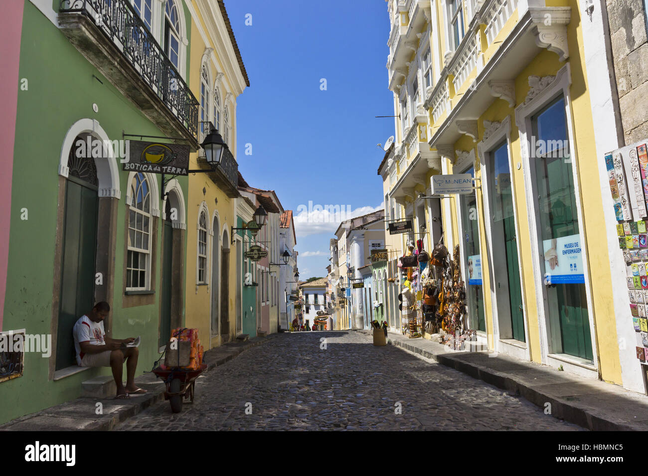
[{"label": "narrow glass door with blue-and-white poster, nearest the hanging leather bags", "polygon": [[[463,172],[475,176],[474,168]],[[469,323],[471,329],[486,331],[486,319],[484,314],[483,291],[481,284],[481,255],[480,255],[480,233],[477,220],[477,198],[473,192],[470,195],[459,196],[459,208],[461,213],[461,236],[462,253],[461,257],[467,272],[466,294]]]}]

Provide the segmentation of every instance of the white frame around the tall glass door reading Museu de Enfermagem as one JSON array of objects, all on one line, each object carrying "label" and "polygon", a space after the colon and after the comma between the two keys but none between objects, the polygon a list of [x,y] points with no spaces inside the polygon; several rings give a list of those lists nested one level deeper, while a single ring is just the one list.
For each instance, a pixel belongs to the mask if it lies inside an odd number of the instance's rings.
[{"label": "white frame around the tall glass door reading Museu de Enfermagem", "polygon": [[[533,276],[535,282],[535,295],[536,295],[536,306],[538,313],[538,327],[540,332],[540,358],[542,363],[546,365],[551,365],[552,367],[559,367],[559,365],[565,365],[565,370],[570,370],[581,375],[586,376],[598,376],[597,372],[597,362],[598,362],[598,348],[597,340],[594,338],[596,333],[594,331],[594,306],[592,302],[592,283],[590,282],[590,271],[589,271],[589,258],[588,258],[588,247],[586,234],[584,230],[584,220],[583,220],[583,205],[581,203],[581,192],[580,192],[580,183],[578,170],[578,153],[575,147],[573,147],[573,115],[572,115],[572,98],[570,93],[570,87],[572,84],[572,74],[570,70],[570,63],[564,65],[558,72],[555,74],[553,81],[546,85],[541,91],[535,92],[533,95],[527,95],[527,100],[525,100],[520,106],[515,108],[515,122],[520,131],[520,144],[522,152],[522,169],[524,170],[524,183],[526,188],[526,200],[527,200],[527,213],[529,217],[534,217],[533,220],[530,220],[529,223],[529,235],[531,238],[531,256],[533,264]],[[539,223],[539,210],[538,210],[538,201],[537,201],[537,185],[535,177],[535,167],[532,168],[534,163],[531,162],[531,157],[529,153],[529,144],[530,137],[533,134],[533,127],[531,119],[533,115],[538,113],[545,106],[548,106],[559,96],[564,97],[565,102],[565,115],[567,122],[567,133],[568,139],[570,141],[570,153],[572,159],[572,173],[573,173],[573,184],[574,184],[574,196],[576,199],[576,209],[579,223],[579,233],[581,239],[581,249],[583,250],[583,273],[585,276],[585,295],[587,301],[587,312],[588,319],[590,321],[590,339],[592,339],[592,362],[589,364],[585,363],[583,359],[579,357],[566,357],[564,354],[553,354],[551,345],[550,345],[550,323],[549,323],[549,312],[546,308],[545,303],[547,302],[547,291],[546,286],[544,286],[544,276],[542,276],[542,263],[540,262],[540,243],[542,242],[542,236],[540,234],[540,223]],[[533,159],[535,161],[535,159]]]}]

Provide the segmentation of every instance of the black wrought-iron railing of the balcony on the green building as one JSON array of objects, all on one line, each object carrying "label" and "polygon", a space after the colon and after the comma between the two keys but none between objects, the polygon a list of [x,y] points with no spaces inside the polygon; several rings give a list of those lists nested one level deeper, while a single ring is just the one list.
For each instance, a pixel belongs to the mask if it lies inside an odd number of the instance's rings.
[{"label": "black wrought-iron railing of the balcony on the green building", "polygon": [[127,0],[62,0],[61,14],[87,16],[148,87],[198,139],[198,100]]}]

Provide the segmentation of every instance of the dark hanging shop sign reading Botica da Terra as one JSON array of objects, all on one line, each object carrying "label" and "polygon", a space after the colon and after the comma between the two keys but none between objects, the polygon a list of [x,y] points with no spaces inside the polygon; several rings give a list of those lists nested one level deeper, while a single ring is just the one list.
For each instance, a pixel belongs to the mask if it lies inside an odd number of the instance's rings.
[{"label": "dark hanging shop sign reading Botica da Terra", "polygon": [[186,176],[189,146],[161,142],[126,141],[126,161],[122,170]]}]

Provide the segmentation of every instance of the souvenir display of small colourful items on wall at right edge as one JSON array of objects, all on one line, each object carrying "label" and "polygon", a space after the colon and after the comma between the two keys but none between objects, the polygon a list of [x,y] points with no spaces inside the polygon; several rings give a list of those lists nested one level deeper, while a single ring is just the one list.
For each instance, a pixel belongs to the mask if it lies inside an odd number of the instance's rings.
[{"label": "souvenir display of small colourful items on wall at right edge", "polygon": [[[605,154],[638,361],[648,365],[648,152],[646,141]],[[612,259],[613,256],[610,255]],[[617,258],[619,259],[619,258]]]}]

